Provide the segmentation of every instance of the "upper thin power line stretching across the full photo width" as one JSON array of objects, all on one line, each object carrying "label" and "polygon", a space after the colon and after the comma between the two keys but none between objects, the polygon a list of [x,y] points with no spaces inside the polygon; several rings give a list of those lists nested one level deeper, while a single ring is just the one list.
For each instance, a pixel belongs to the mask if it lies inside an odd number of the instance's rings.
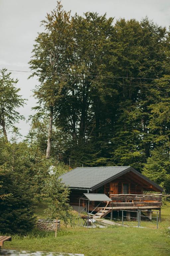
[{"label": "upper thin power line stretching across the full photo width", "polygon": [[[2,70],[2,69],[0,69],[0,70]],[[7,69],[7,71],[10,71],[10,72],[36,73],[35,71],[26,71],[26,70],[10,70],[10,69]],[[37,73],[45,74],[46,72],[38,71]],[[71,74],[71,73],[60,73],[58,75],[84,76],[84,75],[80,75],[80,74]],[[123,76],[102,76],[102,75],[85,75],[85,76],[89,76],[89,77],[103,77],[103,78],[124,78],[124,79],[139,79],[139,80],[140,79],[144,79],[144,80],[166,80],[166,81],[170,81],[170,79],[167,79],[167,78],[123,77]]]}]

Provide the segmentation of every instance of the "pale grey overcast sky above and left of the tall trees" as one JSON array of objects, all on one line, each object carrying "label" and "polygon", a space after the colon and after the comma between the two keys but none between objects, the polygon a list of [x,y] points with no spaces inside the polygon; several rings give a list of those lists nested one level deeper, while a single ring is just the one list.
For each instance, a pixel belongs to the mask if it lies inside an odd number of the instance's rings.
[{"label": "pale grey overcast sky above and left of the tall trees", "polygon": [[[170,25],[170,0],[62,0],[65,10],[83,15],[86,11],[107,13],[108,17],[135,18],[141,20],[146,15],[158,25]],[[47,12],[53,10],[56,0],[0,0],[0,69],[29,71],[28,61],[31,57],[34,39],[42,31],[40,21]],[[38,83],[36,78],[27,80],[28,74],[13,72],[18,78],[20,94],[28,99],[27,105],[19,111],[28,119],[36,105],[32,90]],[[29,123],[21,121],[17,126],[25,136]]]}]

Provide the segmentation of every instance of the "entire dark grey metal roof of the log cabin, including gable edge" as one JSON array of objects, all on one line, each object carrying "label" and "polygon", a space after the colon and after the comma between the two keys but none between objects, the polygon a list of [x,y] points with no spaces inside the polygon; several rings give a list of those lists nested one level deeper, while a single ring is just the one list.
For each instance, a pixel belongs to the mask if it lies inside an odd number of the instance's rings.
[{"label": "entire dark grey metal roof of the log cabin, including gable edge", "polygon": [[130,166],[107,166],[107,167],[77,167],[59,178],[67,187],[74,189],[94,190],[104,184],[132,171],[146,182],[163,191],[163,188],[149,180]]}]

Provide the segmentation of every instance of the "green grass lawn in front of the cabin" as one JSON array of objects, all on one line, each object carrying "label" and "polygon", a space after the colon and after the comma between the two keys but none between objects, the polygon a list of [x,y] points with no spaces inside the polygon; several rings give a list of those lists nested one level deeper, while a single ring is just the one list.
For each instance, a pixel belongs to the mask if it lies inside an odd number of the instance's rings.
[{"label": "green grass lawn in front of the cabin", "polygon": [[[45,207],[44,203],[38,205],[39,218],[45,217]],[[4,249],[84,253],[85,256],[169,256],[169,226],[170,203],[162,207],[158,230],[122,226],[87,229],[78,225],[65,228],[61,224],[56,238],[54,232],[35,230],[25,237],[14,236]]]}]

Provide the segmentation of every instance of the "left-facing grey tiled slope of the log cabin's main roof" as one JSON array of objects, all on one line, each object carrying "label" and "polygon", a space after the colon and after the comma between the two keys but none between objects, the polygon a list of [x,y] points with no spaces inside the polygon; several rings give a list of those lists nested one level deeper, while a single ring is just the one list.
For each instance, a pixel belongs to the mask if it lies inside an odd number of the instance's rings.
[{"label": "left-facing grey tiled slope of the log cabin's main roof", "polygon": [[59,178],[71,188],[92,189],[130,166],[77,167]]}]

